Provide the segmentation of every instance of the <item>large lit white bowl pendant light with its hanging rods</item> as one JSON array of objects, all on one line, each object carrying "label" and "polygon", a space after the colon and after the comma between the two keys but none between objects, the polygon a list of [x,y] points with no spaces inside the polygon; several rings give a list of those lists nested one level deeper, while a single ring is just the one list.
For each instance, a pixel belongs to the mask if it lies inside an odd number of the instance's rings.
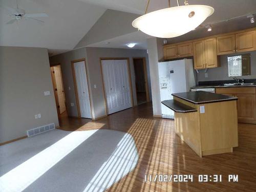
[{"label": "large lit white bowl pendant light with its hanging rods", "polygon": [[197,28],[204,20],[214,13],[214,8],[206,5],[188,5],[160,9],[150,13],[147,12],[147,1],[145,14],[136,18],[132,25],[138,30],[151,36],[171,38],[183,35]]}]

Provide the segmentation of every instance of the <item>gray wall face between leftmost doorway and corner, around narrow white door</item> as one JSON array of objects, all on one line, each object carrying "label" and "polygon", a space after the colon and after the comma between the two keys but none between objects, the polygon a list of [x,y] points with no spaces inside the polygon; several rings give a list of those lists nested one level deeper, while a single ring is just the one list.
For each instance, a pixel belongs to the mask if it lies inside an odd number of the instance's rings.
[{"label": "gray wall face between leftmost doorway and corner, around narrow white door", "polygon": [[[76,103],[76,97],[75,97],[75,88],[74,88],[71,61],[86,58],[86,56],[87,56],[86,48],[81,48],[81,49],[69,51],[66,53],[62,53],[56,56],[52,56],[49,58],[51,66],[58,65],[58,64],[61,65],[61,73],[62,73],[62,79],[63,79],[63,86],[65,90],[67,111],[69,116],[73,116],[73,117],[78,116],[78,111],[77,111],[77,103]],[[71,106],[71,103],[74,103],[74,106]]]}]

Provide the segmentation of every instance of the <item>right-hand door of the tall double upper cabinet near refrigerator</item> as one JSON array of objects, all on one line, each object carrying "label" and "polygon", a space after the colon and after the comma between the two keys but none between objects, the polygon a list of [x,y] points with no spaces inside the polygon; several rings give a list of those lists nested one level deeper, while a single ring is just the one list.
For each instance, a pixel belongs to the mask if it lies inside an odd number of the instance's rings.
[{"label": "right-hand door of the tall double upper cabinet near refrigerator", "polygon": [[218,67],[216,38],[204,40],[206,68]]}]

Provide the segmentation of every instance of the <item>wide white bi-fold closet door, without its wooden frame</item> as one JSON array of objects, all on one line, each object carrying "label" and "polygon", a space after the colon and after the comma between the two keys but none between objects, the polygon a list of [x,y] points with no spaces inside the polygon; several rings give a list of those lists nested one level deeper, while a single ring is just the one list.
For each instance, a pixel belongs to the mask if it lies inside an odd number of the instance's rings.
[{"label": "wide white bi-fold closet door, without its wooden frame", "polygon": [[126,59],[101,60],[108,114],[132,107]]}]

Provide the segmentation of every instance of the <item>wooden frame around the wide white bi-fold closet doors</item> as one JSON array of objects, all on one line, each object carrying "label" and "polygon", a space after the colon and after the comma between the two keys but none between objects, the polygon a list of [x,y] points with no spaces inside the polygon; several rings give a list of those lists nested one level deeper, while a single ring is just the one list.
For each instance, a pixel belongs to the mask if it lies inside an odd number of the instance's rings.
[{"label": "wooden frame around the wide white bi-fold closet doors", "polygon": [[134,108],[134,100],[133,100],[133,86],[132,86],[132,77],[131,77],[131,69],[130,69],[130,58],[129,57],[100,57],[100,71],[101,71],[101,78],[102,78],[102,85],[103,85],[103,95],[104,95],[104,102],[105,102],[105,113],[108,115],[108,105],[106,104],[106,92],[105,92],[105,84],[103,79],[103,70],[102,70],[102,60],[127,60],[127,69],[128,69],[128,77],[129,77],[129,86],[130,86],[130,96],[132,102],[132,108]]}]

